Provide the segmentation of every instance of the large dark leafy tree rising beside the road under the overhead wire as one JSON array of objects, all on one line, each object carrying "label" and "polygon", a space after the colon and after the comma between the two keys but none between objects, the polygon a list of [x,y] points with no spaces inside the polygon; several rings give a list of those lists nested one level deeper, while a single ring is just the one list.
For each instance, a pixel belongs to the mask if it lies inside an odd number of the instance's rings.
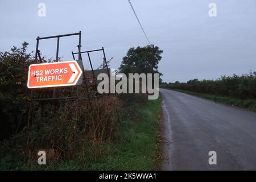
[{"label": "large dark leafy tree rising beside the road under the overhead wire", "polygon": [[[126,75],[128,73],[159,73],[158,63],[162,59],[161,53],[163,51],[154,45],[131,47],[123,57],[119,72]],[[162,73],[159,73],[159,76],[162,76]]]}]

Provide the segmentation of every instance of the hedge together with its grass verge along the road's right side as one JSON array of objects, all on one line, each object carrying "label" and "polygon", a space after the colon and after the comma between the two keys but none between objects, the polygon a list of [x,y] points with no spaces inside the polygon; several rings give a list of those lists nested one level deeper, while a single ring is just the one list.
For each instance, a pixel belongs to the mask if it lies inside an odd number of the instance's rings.
[{"label": "hedge together with its grass verge along the road's right side", "polygon": [[160,87],[256,111],[256,72],[242,76],[222,76],[217,80],[163,82]]}]

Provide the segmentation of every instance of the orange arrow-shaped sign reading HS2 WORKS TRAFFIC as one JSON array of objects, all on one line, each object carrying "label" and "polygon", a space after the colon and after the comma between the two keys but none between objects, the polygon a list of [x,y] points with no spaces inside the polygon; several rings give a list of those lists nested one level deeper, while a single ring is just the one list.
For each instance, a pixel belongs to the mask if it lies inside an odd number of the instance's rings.
[{"label": "orange arrow-shaped sign reading HS2 WORKS TRAFFIC", "polygon": [[77,61],[31,64],[28,68],[28,88],[78,85],[82,70]]}]

